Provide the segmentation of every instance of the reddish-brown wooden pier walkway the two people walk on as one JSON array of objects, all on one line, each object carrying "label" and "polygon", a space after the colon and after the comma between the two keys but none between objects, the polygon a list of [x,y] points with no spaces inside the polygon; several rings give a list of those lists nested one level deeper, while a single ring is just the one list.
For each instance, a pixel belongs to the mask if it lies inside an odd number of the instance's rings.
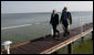
[{"label": "reddish-brown wooden pier walkway the two people walk on", "polygon": [[[92,32],[93,23],[84,24],[83,33],[81,30],[82,26],[71,29],[70,35],[63,37],[60,41],[53,40],[51,35],[46,35],[33,41],[21,43],[19,45],[10,47],[10,53],[11,54],[51,54]],[[63,36],[63,32],[61,32],[60,35]],[[6,50],[2,50],[1,52],[3,54],[7,54]]]}]

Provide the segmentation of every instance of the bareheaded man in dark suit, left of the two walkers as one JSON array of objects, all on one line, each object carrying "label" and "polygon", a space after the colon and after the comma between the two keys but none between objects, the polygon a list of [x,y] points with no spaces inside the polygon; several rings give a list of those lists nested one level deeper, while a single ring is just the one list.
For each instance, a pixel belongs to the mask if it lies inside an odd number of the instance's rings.
[{"label": "bareheaded man in dark suit, left of the two walkers", "polygon": [[56,26],[59,25],[59,14],[56,13],[56,10],[53,10],[53,12],[51,14],[50,24],[52,24],[52,28],[53,28],[53,38],[55,38],[56,37],[56,33],[58,33],[58,36],[60,35],[59,31],[56,30]]}]

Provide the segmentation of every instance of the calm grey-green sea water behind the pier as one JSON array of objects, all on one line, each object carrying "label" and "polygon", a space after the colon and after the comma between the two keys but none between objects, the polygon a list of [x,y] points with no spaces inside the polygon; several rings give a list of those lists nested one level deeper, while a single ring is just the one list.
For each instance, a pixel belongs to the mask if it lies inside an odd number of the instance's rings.
[{"label": "calm grey-green sea water behind the pier", "polygon": [[[93,22],[93,12],[71,12],[73,23],[70,29]],[[61,13],[59,13],[61,16]],[[1,42],[12,41],[12,45],[31,41],[51,33],[51,13],[1,14]],[[62,25],[58,26],[62,30]]]}]

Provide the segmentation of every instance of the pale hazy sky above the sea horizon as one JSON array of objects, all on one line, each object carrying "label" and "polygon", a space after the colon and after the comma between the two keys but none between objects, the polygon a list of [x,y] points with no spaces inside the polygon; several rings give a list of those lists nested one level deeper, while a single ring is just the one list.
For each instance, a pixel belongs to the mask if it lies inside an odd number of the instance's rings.
[{"label": "pale hazy sky above the sea horizon", "polygon": [[69,11],[93,11],[93,1],[1,1],[1,13],[60,12],[64,7]]}]

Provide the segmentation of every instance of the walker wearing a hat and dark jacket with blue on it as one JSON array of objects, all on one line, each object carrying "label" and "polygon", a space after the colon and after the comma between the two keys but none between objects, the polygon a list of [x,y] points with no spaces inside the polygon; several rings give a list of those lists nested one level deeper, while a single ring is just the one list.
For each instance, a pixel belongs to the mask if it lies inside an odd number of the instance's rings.
[{"label": "walker wearing a hat and dark jacket with blue on it", "polygon": [[70,35],[70,32],[67,30],[67,26],[70,24],[72,24],[72,15],[70,12],[67,12],[67,9],[66,7],[64,7],[63,9],[63,12],[61,14],[61,20],[60,22],[62,22],[62,25],[63,25],[63,30],[64,30],[64,35],[63,36],[66,36],[66,35]]}]

